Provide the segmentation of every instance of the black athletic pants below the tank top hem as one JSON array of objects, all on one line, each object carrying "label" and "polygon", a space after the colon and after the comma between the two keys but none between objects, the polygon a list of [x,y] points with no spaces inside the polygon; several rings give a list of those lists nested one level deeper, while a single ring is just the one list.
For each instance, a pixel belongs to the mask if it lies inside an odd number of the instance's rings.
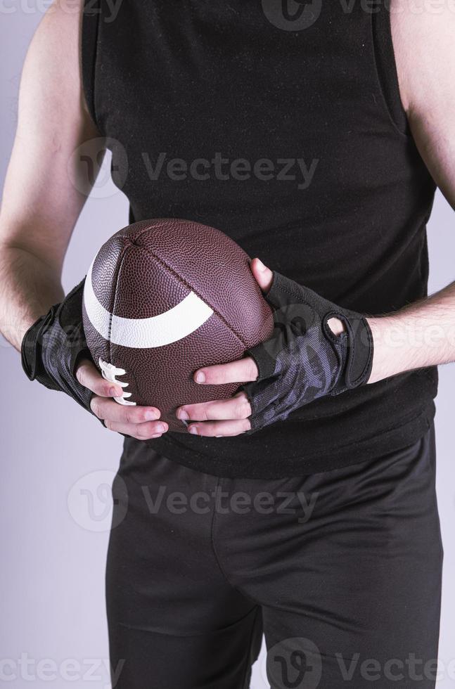
[{"label": "black athletic pants below the tank top hem", "polygon": [[274,480],[217,478],[127,439],[107,567],[113,686],[435,687],[435,439]]}]

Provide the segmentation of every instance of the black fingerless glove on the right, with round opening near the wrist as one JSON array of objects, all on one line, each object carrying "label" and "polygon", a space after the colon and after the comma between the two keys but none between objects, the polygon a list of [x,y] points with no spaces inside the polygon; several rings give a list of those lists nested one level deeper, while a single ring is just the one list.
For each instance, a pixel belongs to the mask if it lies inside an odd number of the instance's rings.
[{"label": "black fingerless glove on the right, with round opening near the wrist", "polygon": [[[252,410],[250,433],[318,397],[364,385],[373,361],[364,316],[276,272],[266,299],[274,308],[274,333],[246,352],[259,370],[257,380],[242,387]],[[339,318],[345,332],[334,335],[330,318]]]}]

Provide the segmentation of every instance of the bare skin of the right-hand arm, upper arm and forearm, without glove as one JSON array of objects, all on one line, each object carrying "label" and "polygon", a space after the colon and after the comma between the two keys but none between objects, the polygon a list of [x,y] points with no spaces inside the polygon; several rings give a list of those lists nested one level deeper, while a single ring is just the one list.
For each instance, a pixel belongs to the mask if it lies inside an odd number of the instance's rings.
[{"label": "bare skin of the right-hand arm, upper arm and forearm, without glove", "polygon": [[[417,13],[407,0],[393,0],[391,19],[412,134],[433,179],[455,208],[455,14],[446,4],[437,13]],[[370,382],[455,361],[455,283],[369,323],[376,349]]]}]

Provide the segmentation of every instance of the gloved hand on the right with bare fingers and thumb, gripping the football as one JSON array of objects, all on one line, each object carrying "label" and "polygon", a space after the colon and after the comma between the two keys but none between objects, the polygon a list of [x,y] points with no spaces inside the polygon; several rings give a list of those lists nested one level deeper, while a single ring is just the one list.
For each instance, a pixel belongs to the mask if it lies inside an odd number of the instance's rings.
[{"label": "gloved hand on the right with bare fingers and thumb, gripping the football", "polygon": [[[278,273],[276,285],[274,273],[259,259],[252,260],[251,270],[266,297],[270,292],[267,298],[276,309],[278,327],[270,340],[250,350],[252,356],[196,371],[194,380],[200,385],[250,385],[230,399],[179,407],[177,418],[198,422],[188,425],[192,434],[226,437],[257,430],[283,420],[316,397],[338,394],[368,378],[373,343],[363,317],[335,307]],[[278,303],[283,295],[283,303]]]}]

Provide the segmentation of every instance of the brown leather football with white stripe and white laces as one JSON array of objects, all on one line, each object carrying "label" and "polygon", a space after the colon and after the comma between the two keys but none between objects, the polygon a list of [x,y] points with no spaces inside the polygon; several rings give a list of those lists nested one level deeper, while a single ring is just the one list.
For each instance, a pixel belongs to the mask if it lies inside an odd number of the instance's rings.
[{"label": "brown leather football with white stripe and white laces", "polygon": [[186,432],[181,404],[231,397],[239,385],[197,385],[201,366],[241,359],[273,330],[250,259],[212,227],[179,219],[136,222],[99,250],[86,276],[84,330],[119,404],[156,406]]}]

